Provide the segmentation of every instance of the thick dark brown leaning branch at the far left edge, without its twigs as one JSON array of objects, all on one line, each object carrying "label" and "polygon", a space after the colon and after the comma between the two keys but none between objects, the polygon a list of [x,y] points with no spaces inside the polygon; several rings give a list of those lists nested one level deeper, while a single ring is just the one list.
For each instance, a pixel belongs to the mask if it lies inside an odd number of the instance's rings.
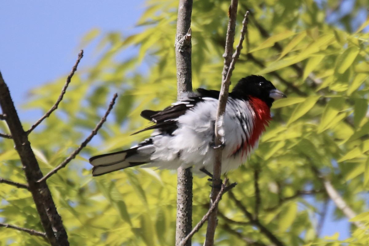
[{"label": "thick dark brown leaning branch at the far left edge, without its twigs", "polygon": [[27,132],[24,131],[10,96],[8,86],[0,73],[0,105],[3,114],[6,114],[6,123],[24,167],[29,190],[35,202],[41,225],[52,246],[68,246],[68,235],[64,229],[62,219],[56,210],[50,190],[45,182],[37,183],[42,178]]}]

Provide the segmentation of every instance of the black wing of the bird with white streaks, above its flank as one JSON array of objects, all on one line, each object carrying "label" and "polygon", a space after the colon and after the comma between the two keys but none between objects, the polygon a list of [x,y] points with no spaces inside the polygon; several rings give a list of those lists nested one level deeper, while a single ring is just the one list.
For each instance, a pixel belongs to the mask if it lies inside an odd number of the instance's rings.
[{"label": "black wing of the bird with white streaks, above its flank", "polygon": [[219,91],[205,90],[200,88],[197,89],[197,93],[194,93],[193,96],[181,100],[182,103],[180,104],[169,106],[162,111],[153,111],[153,110],[142,111],[141,116],[145,119],[155,122],[155,125],[146,127],[138,132],[135,132],[134,134],[151,129],[159,129],[161,132],[172,134],[173,131],[175,131],[178,128],[177,119],[181,115],[184,115],[187,110],[191,110],[197,103],[204,101],[203,97],[211,97],[218,99]]}]

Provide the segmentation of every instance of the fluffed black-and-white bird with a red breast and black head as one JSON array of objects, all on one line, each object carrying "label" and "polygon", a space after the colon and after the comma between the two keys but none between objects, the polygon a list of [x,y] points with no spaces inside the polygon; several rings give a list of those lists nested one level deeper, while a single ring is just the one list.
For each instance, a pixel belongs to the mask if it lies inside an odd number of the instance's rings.
[{"label": "fluffed black-and-white bird with a red breast and black head", "polygon": [[[178,101],[161,111],[144,110],[141,116],[152,122],[134,134],[152,130],[151,136],[130,149],[93,156],[93,176],[128,167],[158,169],[193,168],[209,175],[214,163],[215,117],[219,91],[197,89],[184,92]],[[242,78],[229,93],[222,119],[222,166],[224,174],[245,163],[258,147],[266,130],[270,107],[286,97],[264,77]]]}]

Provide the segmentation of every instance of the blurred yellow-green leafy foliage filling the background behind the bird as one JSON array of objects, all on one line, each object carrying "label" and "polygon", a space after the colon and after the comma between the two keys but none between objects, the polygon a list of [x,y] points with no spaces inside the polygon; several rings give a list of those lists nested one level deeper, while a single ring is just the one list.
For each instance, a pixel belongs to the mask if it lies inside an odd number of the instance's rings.
[{"label": "blurred yellow-green leafy foliage filling the background behind the bird", "polygon": [[[219,89],[228,4],[225,0],[194,1],[194,88]],[[240,4],[239,22],[246,10],[252,13],[250,52],[242,51],[232,81],[263,74],[289,97],[273,106],[274,120],[255,155],[227,174],[238,183],[235,197],[283,245],[368,245],[369,34],[363,30],[368,30],[369,20],[355,26],[354,17],[339,15],[339,6],[330,1],[321,5],[312,0]],[[87,164],[92,154],[121,150],[145,138],[146,133],[130,135],[147,124],[139,112],[162,109],[176,99],[177,1],[148,0],[147,6],[138,23],[142,32],[128,37],[119,32],[99,35],[98,30],[86,34],[83,45],[100,40],[99,61],[73,77],[56,114],[30,135],[46,173],[82,142],[111,95],[118,92],[120,96],[114,118],[99,132],[100,141],[48,180],[72,245],[174,245],[174,171],[132,168],[92,179]],[[361,11],[365,4],[355,1],[354,8]],[[337,25],[327,23],[332,18]],[[137,56],[120,59],[122,51],[134,47]],[[27,107],[47,111],[63,83],[64,78],[34,89]],[[0,124],[7,132],[4,122]],[[25,183],[13,143],[1,139],[0,148],[1,177]],[[331,200],[321,177],[330,180],[358,214],[351,221],[365,229],[352,226],[347,232],[351,236],[344,241],[338,240],[338,234],[320,235],[321,218]],[[206,179],[194,178],[194,222],[208,209],[207,184]],[[30,193],[1,184],[0,197],[4,223],[42,231]],[[243,208],[230,196],[223,197],[216,245],[270,245],[268,235],[250,222]],[[344,216],[336,209],[335,218]],[[24,232],[0,231],[1,245],[48,245]],[[203,242],[204,234],[201,229],[193,242]]]}]

